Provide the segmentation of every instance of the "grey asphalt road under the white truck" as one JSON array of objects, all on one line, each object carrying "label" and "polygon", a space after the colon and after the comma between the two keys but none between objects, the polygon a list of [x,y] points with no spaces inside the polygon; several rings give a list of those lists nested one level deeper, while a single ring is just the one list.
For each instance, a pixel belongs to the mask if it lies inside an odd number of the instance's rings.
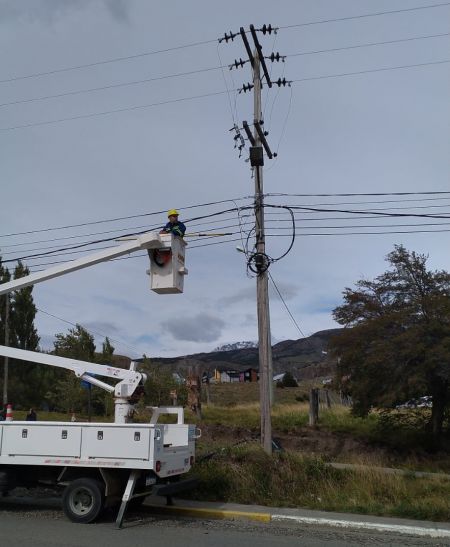
[{"label": "grey asphalt road under the white truck", "polygon": [[0,499],[0,547],[344,547],[449,546],[450,541],[330,527],[161,517],[143,508],[117,530],[113,516],[98,524],[73,524],[60,501]]}]

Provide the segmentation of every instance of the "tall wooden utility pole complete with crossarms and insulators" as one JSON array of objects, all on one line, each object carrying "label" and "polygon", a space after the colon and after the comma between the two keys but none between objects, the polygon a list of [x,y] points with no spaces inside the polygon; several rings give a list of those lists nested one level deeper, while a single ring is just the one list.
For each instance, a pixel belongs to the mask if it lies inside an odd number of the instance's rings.
[{"label": "tall wooden utility pole complete with crossarms and insulators", "polygon": [[[252,83],[244,84],[239,93],[247,93],[253,89],[253,133],[250,130],[249,124],[242,122],[242,129],[245,131],[247,140],[250,143],[250,165],[252,167],[253,176],[255,179],[255,247],[254,252],[246,252],[247,267],[256,274],[256,298],[257,298],[257,318],[258,318],[258,351],[259,351],[259,384],[260,384],[260,412],[261,412],[261,444],[267,454],[272,454],[272,418],[271,410],[273,403],[273,372],[272,372],[272,343],[270,335],[270,312],[269,312],[269,286],[268,286],[268,269],[273,260],[266,254],[266,240],[264,231],[264,189],[263,189],[263,166],[264,166],[264,151],[269,159],[276,157],[270,150],[266,140],[267,132],[263,130],[264,120],[262,119],[261,105],[261,88],[262,76],[261,69],[264,74],[265,85],[272,87],[273,84],[278,87],[290,85],[285,78],[278,78],[272,82],[267,70],[265,59],[270,59],[272,62],[284,62],[284,57],[279,53],[272,53],[269,57],[264,57],[261,44],[259,43],[257,32],[263,35],[276,33],[278,29],[272,25],[263,25],[260,29],[255,29],[250,25],[249,31],[243,27],[239,33],[225,33],[223,38],[219,39],[219,43],[225,41],[233,41],[236,36],[241,36],[245,50],[248,55],[248,60],[243,61],[241,58],[235,60],[229,65],[230,70],[233,68],[242,68],[246,63],[250,63],[253,71]],[[250,34],[254,42],[254,51],[250,47],[247,39],[247,34]],[[240,128],[235,124],[231,129],[236,132],[234,137],[235,148],[239,149],[239,157],[242,149],[245,147],[245,139],[240,133]]]}]

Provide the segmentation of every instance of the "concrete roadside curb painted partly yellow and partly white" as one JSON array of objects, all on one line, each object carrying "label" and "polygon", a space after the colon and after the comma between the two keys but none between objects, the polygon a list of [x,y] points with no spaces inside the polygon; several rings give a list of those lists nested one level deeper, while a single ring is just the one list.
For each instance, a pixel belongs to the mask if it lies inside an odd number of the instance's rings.
[{"label": "concrete roadside curb painted partly yellow and partly white", "polygon": [[[228,510],[208,507],[182,507],[180,505],[159,505],[146,503],[145,507],[151,511],[166,515],[180,515],[196,518],[209,519],[246,519],[258,522],[291,522],[298,524],[314,524],[320,526],[330,526],[335,528],[372,530],[377,532],[392,532],[401,535],[421,536],[431,538],[450,538],[450,528],[439,528],[435,523],[429,526],[414,526],[408,524],[388,524],[385,522],[346,520],[339,518],[312,517],[292,514],[267,512]],[[322,513],[323,514],[323,513]],[[357,517],[357,515],[352,515]],[[376,517],[375,517],[376,518]],[[423,524],[421,522],[421,524]]]}]

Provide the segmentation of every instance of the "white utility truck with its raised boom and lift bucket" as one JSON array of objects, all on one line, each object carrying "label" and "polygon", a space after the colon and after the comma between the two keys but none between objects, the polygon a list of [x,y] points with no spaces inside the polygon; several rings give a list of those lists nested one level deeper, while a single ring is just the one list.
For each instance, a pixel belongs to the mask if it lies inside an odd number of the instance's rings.
[{"label": "white utility truck with its raised boom and lift bucket", "polygon": [[[0,285],[0,295],[147,249],[151,288],[161,294],[183,291],[185,242],[171,234],[148,233],[121,245]],[[107,506],[118,506],[122,526],[129,503],[137,505],[155,489],[170,496],[191,486],[179,481],[195,459],[200,431],[184,423],[183,408],[154,408],[150,423],[130,423],[146,375],[129,370],[0,346],[0,356],[65,368],[80,380],[114,396],[114,423],[0,422],[0,493],[16,486],[64,486],[63,510],[73,522],[94,521]],[[113,386],[100,379],[118,382]],[[175,414],[176,424],[161,424],[161,414]]]}]

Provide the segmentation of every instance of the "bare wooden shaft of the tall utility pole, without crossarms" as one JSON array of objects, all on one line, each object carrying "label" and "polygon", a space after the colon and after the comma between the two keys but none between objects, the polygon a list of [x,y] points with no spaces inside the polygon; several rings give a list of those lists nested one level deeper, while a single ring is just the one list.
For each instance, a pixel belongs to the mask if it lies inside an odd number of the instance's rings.
[{"label": "bare wooden shaft of the tall utility pole, without crossarms", "polygon": [[[258,52],[253,56],[254,91],[254,148],[261,150],[262,143],[256,127],[262,118],[261,74]],[[256,299],[258,316],[259,384],[261,404],[261,444],[267,454],[272,454],[272,345],[270,336],[269,284],[266,261],[266,239],[264,232],[264,190],[262,165],[254,167],[256,253],[260,257],[261,269],[256,277]],[[258,266],[258,263],[257,263]]]}]

